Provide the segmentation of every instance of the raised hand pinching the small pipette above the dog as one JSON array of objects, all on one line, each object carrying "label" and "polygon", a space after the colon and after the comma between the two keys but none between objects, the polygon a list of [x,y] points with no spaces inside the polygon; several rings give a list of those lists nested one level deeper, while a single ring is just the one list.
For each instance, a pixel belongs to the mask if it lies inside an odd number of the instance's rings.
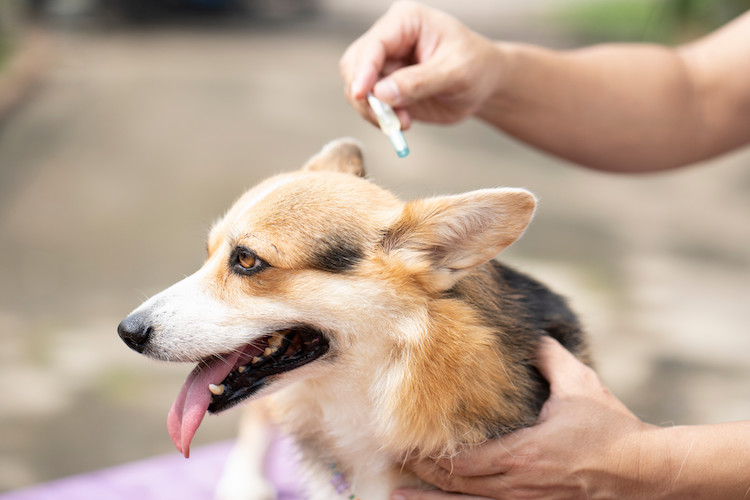
[{"label": "raised hand pinching the small pipette above the dog", "polygon": [[497,86],[502,57],[455,18],[401,1],[349,46],[339,65],[346,98],[364,118],[376,123],[366,101],[372,91],[407,129],[413,119],[447,124],[478,111]]}]

